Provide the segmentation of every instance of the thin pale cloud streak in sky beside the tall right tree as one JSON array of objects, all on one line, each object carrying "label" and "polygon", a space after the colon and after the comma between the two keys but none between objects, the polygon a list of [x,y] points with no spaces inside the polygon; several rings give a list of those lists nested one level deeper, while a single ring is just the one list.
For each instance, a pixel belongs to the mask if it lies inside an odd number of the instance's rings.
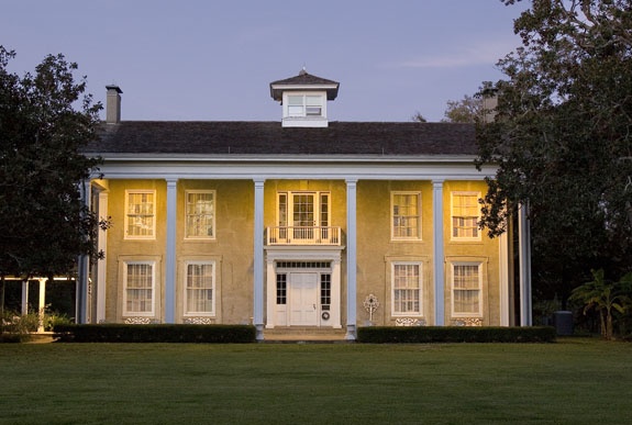
[{"label": "thin pale cloud streak in sky beside the tall right tree", "polygon": [[518,43],[511,42],[479,42],[457,49],[444,51],[413,57],[399,63],[391,63],[395,68],[464,68],[478,65],[496,65],[496,63],[513,51]]}]

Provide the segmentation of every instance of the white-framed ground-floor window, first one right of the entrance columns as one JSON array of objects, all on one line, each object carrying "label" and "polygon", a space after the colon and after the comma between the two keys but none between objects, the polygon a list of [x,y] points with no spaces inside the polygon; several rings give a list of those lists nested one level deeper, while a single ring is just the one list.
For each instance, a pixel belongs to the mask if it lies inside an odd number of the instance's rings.
[{"label": "white-framed ground-floor window, first one right of the entrance columns", "polygon": [[392,315],[421,316],[423,314],[421,262],[392,262],[391,279]]}]

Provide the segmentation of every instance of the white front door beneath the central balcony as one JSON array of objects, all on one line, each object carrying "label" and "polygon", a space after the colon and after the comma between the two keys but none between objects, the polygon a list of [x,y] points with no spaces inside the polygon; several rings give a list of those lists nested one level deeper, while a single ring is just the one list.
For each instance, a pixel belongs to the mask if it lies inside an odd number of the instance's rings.
[{"label": "white front door beneath the central balcony", "polygon": [[290,325],[315,326],[318,321],[318,273],[290,273]]}]

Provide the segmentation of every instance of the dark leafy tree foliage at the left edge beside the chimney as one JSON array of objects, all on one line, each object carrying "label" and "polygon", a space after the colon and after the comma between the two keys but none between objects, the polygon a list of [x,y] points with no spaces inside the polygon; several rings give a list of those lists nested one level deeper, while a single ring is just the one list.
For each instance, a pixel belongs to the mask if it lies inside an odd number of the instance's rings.
[{"label": "dark leafy tree foliage at the left edge beside the chimney", "polygon": [[80,182],[99,160],[80,149],[97,137],[101,105],[63,55],[23,77],[8,70],[13,57],[0,46],[0,276],[66,275],[97,254]]}]

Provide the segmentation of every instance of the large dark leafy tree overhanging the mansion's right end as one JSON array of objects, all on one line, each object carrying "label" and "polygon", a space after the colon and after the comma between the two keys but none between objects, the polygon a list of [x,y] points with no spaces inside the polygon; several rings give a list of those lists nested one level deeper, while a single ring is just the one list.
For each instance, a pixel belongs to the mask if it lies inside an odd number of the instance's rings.
[{"label": "large dark leafy tree overhanging the mansion's right end", "polygon": [[507,79],[481,89],[498,107],[477,164],[499,167],[483,225],[498,235],[528,203],[534,289],[564,298],[590,268],[632,265],[632,1],[533,0],[514,31]]}]

